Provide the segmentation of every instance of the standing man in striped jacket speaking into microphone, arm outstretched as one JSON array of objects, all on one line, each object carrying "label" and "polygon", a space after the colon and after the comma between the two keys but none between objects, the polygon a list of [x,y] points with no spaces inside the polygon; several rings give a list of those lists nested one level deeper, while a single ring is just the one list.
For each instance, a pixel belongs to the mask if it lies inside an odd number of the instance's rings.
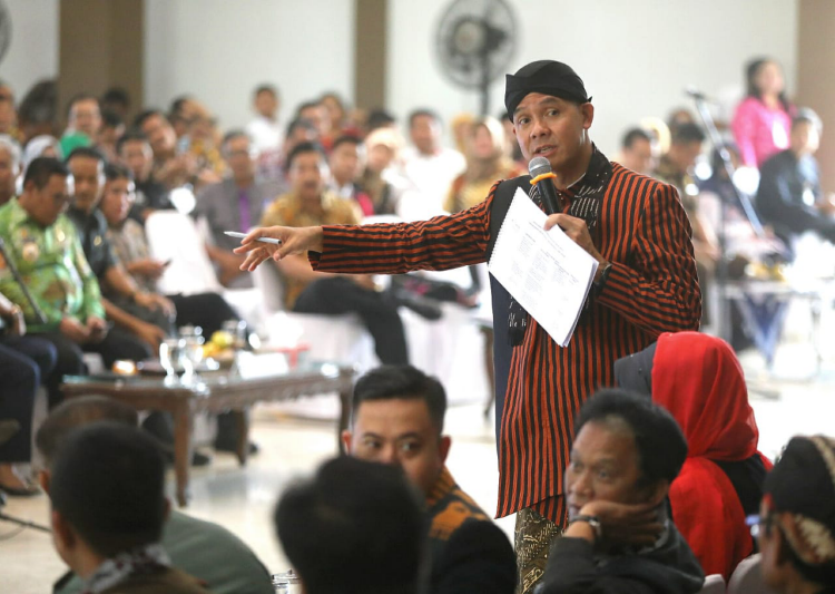
[{"label": "standing man in striped jacket speaking into microphone, arm outstretched", "polygon": [[[242,270],[307,252],[314,270],[401,274],[448,270],[490,259],[517,188],[595,257],[599,267],[574,335],[557,344],[494,279],[499,505],[517,515],[520,592],[544,569],[550,544],[567,525],[563,474],[573,420],[599,387],[612,386],[615,360],[661,332],[697,330],[701,293],[690,224],[672,186],[610,163],[593,145],[595,107],[567,65],[539,60],[508,75],[504,103],[527,159],[544,157],[553,188],[529,176],[497,183],[487,199],[450,216],[407,224],[266,227],[235,251]],[[551,214],[552,213],[552,214]],[[281,244],[257,241],[281,240]]]}]

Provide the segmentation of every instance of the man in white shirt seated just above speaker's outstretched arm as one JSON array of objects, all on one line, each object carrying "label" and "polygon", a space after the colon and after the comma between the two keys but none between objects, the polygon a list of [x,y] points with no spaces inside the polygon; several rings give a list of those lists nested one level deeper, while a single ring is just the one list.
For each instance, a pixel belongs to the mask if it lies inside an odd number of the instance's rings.
[{"label": "man in white shirt seated just above speaker's outstretched arm", "polygon": [[430,109],[409,116],[412,146],[403,149],[403,175],[416,195],[410,197],[407,218],[429,218],[443,213],[443,201],[453,179],[466,168],[464,156],[441,144],[441,119]]}]

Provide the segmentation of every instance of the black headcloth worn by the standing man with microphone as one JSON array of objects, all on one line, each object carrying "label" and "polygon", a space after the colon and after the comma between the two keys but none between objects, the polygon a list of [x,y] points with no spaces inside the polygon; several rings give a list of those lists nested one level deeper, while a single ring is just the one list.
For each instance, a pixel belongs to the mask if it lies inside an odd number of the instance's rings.
[{"label": "black headcloth worn by the standing man with microphone", "polygon": [[505,76],[504,107],[511,120],[513,111],[530,92],[541,92],[581,104],[591,100],[577,72],[567,64],[556,60],[537,60],[520,68],[515,75]]}]

